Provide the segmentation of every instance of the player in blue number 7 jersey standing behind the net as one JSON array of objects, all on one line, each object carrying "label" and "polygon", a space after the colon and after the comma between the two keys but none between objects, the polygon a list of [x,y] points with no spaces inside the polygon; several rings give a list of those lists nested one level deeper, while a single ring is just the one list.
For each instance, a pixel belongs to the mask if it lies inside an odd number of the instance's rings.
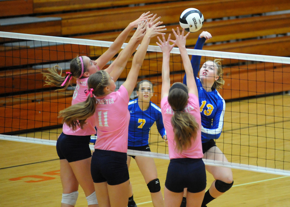
[{"label": "player in blue number 7 jersey standing behind the net", "polygon": [[[137,84],[137,96],[128,104],[130,112],[128,149],[150,152],[149,131],[154,122],[161,134],[166,140],[166,132],[163,126],[161,109],[150,101],[153,96],[153,84],[148,80],[142,80]],[[147,187],[151,193],[151,199],[154,207],[164,207],[160,183],[157,178],[157,169],[153,158],[141,156],[127,156],[127,165],[130,166],[131,157],[133,157],[145,179]],[[135,207],[133,200],[132,185],[130,183],[128,207]]]}]

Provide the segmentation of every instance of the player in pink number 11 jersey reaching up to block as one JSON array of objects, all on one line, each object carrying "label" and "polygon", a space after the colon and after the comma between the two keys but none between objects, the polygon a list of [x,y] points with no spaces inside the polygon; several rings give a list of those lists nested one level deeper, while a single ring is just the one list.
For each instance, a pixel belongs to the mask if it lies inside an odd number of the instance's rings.
[{"label": "player in pink number 11 jersey reaching up to block", "polygon": [[133,57],[127,79],[118,91],[114,91],[116,84],[109,73],[98,71],[89,77],[89,98],[60,112],[63,122],[72,128],[83,127],[85,119],[96,116],[98,139],[92,155],[91,174],[100,206],[125,207],[128,203],[129,95],[136,85],[150,39],[165,31],[165,26],[159,26],[162,22],[158,20],[154,16],[149,22],[140,24],[146,34]]}]

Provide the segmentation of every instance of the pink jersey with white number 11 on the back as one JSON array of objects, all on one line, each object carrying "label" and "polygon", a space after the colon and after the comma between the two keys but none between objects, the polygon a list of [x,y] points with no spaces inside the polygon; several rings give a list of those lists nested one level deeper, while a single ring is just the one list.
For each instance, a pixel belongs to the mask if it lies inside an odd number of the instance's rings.
[{"label": "pink jersey with white number 11 on the back", "polygon": [[129,95],[121,85],[118,91],[97,97],[95,149],[127,153],[130,113]]}]

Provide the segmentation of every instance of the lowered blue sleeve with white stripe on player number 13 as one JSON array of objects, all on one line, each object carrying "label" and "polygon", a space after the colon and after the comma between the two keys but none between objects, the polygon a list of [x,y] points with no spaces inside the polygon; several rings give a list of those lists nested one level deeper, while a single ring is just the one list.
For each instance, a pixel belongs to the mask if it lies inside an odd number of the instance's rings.
[{"label": "lowered blue sleeve with white stripe on player number 13", "polygon": [[223,129],[223,117],[226,109],[225,101],[220,101],[219,107],[215,112],[215,116],[212,119],[212,128],[205,128],[201,126],[201,135],[206,137],[207,140],[218,139]]}]

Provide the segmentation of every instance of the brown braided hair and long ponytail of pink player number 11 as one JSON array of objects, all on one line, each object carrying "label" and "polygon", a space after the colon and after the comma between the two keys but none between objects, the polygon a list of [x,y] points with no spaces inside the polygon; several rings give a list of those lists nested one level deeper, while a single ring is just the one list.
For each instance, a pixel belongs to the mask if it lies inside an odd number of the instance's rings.
[{"label": "brown braided hair and long ponytail of pink player number 11", "polygon": [[[109,78],[106,74],[107,72],[100,70],[89,76],[88,90],[93,89],[92,94],[96,97],[103,96],[105,94],[104,88],[109,85]],[[63,123],[66,123],[73,130],[76,129],[76,126],[83,128],[85,120],[94,114],[96,102],[96,98],[89,95],[86,101],[61,110],[59,117],[63,117]]]}]

